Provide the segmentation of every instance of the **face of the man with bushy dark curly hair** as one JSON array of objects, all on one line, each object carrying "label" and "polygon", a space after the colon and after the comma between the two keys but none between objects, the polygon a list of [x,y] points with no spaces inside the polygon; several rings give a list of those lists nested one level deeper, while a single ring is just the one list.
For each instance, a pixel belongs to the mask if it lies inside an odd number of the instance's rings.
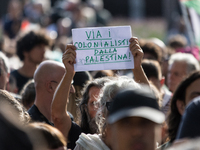
[{"label": "face of the man with bushy dark curly hair", "polygon": [[32,63],[40,64],[44,60],[44,54],[46,51],[46,46],[40,44],[35,46],[30,52],[28,52],[28,59]]}]

